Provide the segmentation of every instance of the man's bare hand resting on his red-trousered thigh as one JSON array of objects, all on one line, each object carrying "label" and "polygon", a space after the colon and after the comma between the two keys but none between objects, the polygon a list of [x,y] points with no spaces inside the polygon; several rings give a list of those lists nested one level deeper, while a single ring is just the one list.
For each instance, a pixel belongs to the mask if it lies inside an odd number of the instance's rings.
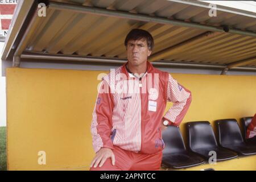
[{"label": "man's bare hand resting on his red-trousered thigh", "polygon": [[113,151],[110,148],[101,148],[96,153],[96,156],[94,157],[92,164],[90,164],[90,167],[93,166],[96,168],[98,164],[100,164],[98,167],[101,167],[108,158],[111,158],[112,165],[115,166],[115,155]]}]

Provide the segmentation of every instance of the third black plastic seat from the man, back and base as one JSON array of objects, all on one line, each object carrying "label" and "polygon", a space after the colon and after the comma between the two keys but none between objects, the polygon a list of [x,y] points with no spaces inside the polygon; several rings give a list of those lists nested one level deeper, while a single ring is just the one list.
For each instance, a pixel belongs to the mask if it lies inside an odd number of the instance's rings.
[{"label": "third black plastic seat from the man, back and base", "polygon": [[246,144],[242,138],[236,119],[220,119],[216,121],[218,143],[222,147],[236,151],[241,155],[256,154],[256,146]]}]

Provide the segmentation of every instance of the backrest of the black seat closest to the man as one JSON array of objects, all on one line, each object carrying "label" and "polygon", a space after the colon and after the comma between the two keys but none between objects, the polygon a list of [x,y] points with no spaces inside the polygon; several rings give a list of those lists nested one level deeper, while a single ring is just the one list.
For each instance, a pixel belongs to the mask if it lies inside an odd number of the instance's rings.
[{"label": "backrest of the black seat closest to the man", "polygon": [[163,154],[183,152],[186,150],[179,127],[168,126],[162,132],[162,137],[165,144]]}]

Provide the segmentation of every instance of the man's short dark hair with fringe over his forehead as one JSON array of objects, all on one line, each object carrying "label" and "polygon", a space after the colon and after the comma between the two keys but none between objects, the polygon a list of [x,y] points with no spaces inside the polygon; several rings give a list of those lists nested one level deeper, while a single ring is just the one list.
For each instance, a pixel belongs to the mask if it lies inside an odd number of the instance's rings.
[{"label": "man's short dark hair with fringe over his forehead", "polygon": [[154,47],[154,39],[150,32],[142,29],[135,28],[127,34],[125,38],[125,47],[127,47],[127,43],[129,40],[139,40],[139,39],[146,39],[147,40],[147,47],[152,51]]}]

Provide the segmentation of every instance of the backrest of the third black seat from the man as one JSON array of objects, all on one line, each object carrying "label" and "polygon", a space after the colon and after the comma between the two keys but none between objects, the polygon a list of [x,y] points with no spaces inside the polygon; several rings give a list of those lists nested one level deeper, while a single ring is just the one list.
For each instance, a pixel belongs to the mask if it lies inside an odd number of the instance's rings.
[{"label": "backrest of the third black seat from the man", "polygon": [[220,119],[216,121],[218,142],[221,146],[243,143],[240,127],[236,119]]}]

